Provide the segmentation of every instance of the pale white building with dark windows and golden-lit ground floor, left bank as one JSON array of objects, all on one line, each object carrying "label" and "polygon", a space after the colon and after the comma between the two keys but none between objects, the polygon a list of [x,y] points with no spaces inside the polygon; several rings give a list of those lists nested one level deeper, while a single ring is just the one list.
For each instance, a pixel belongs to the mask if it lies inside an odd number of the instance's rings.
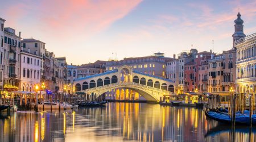
[{"label": "pale white building with dark windows and golden-lit ground floor, left bank", "polygon": [[42,57],[20,52],[20,91],[36,91],[35,86],[40,86]]}]

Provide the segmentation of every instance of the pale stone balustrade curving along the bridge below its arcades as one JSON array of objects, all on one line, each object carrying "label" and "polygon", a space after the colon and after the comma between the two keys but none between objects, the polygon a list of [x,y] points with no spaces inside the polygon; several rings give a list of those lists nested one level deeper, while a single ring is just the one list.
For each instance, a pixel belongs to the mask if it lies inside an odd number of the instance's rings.
[{"label": "pale stone balustrade curving along the bridge below its arcades", "polygon": [[140,87],[145,87],[147,89],[151,89],[151,90],[154,90],[154,91],[159,91],[161,93],[164,93],[164,94],[172,94],[172,92],[170,91],[167,91],[167,90],[163,90],[163,89],[158,89],[156,87],[151,87],[151,86],[147,86],[147,85],[142,85],[140,83],[135,83],[135,82],[117,82],[117,83],[112,83],[112,84],[109,84],[109,85],[103,85],[103,86],[99,86],[99,87],[94,87],[94,88],[91,88],[91,89],[86,89],[86,90],[81,90],[79,92],[88,92],[88,91],[94,91],[94,90],[101,90],[101,89],[105,89],[105,88],[109,88],[109,87],[112,87],[112,86],[117,86],[117,85],[120,85],[120,86],[123,86],[123,85],[133,85],[133,86],[140,86]]}]

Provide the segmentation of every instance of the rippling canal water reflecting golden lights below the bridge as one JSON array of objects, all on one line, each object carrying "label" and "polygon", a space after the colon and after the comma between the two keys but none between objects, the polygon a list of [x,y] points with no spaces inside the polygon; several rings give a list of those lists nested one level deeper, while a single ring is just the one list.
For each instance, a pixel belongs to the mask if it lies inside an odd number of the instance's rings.
[{"label": "rippling canal water reflecting golden lights below the bridge", "polygon": [[0,141],[254,141],[255,137],[255,128],[231,128],[206,118],[200,109],[150,103],[0,115]]}]

